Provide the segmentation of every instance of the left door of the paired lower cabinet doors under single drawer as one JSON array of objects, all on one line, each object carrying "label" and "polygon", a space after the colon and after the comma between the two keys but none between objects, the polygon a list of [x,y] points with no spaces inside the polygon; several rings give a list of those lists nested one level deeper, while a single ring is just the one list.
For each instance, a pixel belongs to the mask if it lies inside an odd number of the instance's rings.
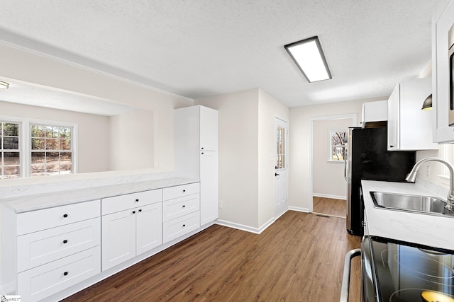
[{"label": "left door of the paired lower cabinet doors under single drawer", "polygon": [[135,209],[101,218],[102,270],[135,256]]}]

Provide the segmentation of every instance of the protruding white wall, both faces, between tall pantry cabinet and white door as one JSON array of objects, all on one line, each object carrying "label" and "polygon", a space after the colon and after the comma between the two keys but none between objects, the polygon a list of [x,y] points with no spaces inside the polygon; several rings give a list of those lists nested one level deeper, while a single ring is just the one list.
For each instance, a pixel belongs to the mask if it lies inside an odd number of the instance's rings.
[{"label": "protruding white wall, both faces, between tall pantry cabinet and white door", "polygon": [[259,88],[195,103],[218,110],[219,219],[260,231],[274,219],[275,117],[289,109]]}]

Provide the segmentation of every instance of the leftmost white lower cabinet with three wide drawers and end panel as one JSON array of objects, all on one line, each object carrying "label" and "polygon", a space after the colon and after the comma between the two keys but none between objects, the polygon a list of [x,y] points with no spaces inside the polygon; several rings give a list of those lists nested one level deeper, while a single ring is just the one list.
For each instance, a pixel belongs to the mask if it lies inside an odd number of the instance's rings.
[{"label": "leftmost white lower cabinet with three wide drawers and end panel", "polygon": [[40,301],[99,274],[100,205],[94,200],[18,214],[2,207],[1,281],[7,292],[0,294]]}]

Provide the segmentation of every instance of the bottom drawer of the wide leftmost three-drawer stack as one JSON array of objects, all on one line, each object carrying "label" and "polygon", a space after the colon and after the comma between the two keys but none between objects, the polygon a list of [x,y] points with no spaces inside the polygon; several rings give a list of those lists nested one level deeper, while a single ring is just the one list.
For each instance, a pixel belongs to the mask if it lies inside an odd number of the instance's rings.
[{"label": "bottom drawer of the wide leftmost three-drawer stack", "polygon": [[18,274],[23,301],[38,301],[101,272],[97,246]]}]

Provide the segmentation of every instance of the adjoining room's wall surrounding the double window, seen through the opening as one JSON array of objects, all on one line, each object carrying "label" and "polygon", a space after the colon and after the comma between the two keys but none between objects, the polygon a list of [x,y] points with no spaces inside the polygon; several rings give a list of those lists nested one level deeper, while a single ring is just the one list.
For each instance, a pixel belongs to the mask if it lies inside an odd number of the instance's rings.
[{"label": "adjoining room's wall surrounding the double window, seen through the opening", "polygon": [[[110,170],[109,117],[0,101],[0,115],[77,123],[79,173]],[[2,180],[4,182],[5,180]]]}]

